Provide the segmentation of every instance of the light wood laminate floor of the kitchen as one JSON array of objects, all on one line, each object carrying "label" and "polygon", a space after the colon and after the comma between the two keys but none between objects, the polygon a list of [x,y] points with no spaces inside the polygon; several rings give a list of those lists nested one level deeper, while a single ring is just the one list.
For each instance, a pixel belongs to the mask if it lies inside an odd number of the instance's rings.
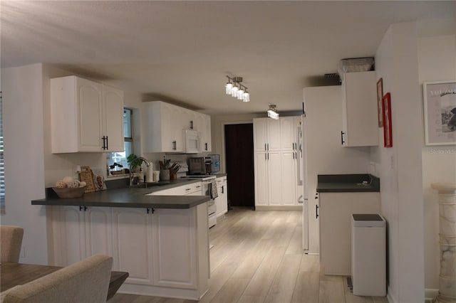
[{"label": "light wood laminate floor of the kitchen", "polygon": [[[388,303],[358,297],[346,278],[321,274],[318,255],[302,250],[300,211],[234,208],[209,231],[209,291],[199,302]],[[115,294],[108,303],[190,303],[185,299]]]}]

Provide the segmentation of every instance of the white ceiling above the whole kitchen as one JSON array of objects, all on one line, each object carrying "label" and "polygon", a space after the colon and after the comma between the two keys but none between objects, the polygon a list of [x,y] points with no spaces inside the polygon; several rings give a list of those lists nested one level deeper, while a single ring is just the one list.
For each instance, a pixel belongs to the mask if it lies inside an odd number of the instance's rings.
[{"label": "white ceiling above the whole kitchen", "polygon": [[[1,66],[52,63],[209,114],[301,109],[391,23],[455,34],[456,1],[1,1]],[[224,95],[241,76],[251,102]],[[155,97],[154,97],[155,96]]]}]

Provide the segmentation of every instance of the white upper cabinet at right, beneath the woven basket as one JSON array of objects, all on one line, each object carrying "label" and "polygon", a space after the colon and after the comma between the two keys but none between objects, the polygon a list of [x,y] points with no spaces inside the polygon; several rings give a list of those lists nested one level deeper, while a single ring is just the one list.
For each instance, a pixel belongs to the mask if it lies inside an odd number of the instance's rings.
[{"label": "white upper cabinet at right, beneath the woven basket", "polygon": [[341,144],[378,145],[378,109],[375,71],[345,73],[342,82]]}]

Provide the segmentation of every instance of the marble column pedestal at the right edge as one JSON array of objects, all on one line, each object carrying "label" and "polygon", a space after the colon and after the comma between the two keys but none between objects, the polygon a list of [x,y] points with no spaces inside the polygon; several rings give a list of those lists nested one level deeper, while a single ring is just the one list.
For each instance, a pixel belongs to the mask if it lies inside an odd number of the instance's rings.
[{"label": "marble column pedestal at the right edge", "polygon": [[456,184],[432,183],[439,194],[439,294],[433,302],[456,302]]}]

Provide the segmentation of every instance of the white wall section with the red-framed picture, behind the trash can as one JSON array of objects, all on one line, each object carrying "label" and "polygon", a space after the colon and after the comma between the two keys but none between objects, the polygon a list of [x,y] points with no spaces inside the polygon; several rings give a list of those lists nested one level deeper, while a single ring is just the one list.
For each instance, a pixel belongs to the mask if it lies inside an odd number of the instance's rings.
[{"label": "white wall section with the red-framed picture, behind the trash can", "polygon": [[415,23],[393,24],[375,53],[377,78],[390,92],[393,147],[371,148],[388,221],[388,299],[424,302],[424,228],[420,87]]}]

